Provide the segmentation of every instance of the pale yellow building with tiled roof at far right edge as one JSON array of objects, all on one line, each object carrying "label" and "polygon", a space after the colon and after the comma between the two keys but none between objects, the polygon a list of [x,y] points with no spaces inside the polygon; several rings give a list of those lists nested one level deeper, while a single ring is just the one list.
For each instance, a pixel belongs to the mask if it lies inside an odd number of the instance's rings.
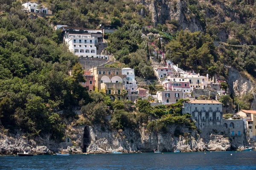
[{"label": "pale yellow building with tiled roof at far right edge", "polygon": [[249,138],[256,140],[256,111],[241,110],[237,114],[246,119]]}]

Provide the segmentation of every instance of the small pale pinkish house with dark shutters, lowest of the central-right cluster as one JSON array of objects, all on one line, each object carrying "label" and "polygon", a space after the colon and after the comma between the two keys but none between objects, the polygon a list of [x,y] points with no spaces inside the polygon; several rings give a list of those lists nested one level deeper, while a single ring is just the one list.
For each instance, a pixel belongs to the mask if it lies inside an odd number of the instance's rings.
[{"label": "small pale pinkish house with dark shutters, lowest of the central-right cluster", "polygon": [[163,105],[176,103],[183,99],[182,91],[157,91],[157,102]]}]

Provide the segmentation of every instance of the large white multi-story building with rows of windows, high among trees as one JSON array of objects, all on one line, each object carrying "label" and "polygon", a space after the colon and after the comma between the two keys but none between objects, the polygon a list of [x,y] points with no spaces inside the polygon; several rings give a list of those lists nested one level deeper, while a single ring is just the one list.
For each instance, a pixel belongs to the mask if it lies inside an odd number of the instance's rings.
[{"label": "large white multi-story building with rows of windows, high among trees", "polygon": [[86,32],[66,32],[64,41],[67,43],[69,50],[78,57],[108,59],[107,55],[97,55],[97,48],[95,45],[98,43],[98,39]]}]

